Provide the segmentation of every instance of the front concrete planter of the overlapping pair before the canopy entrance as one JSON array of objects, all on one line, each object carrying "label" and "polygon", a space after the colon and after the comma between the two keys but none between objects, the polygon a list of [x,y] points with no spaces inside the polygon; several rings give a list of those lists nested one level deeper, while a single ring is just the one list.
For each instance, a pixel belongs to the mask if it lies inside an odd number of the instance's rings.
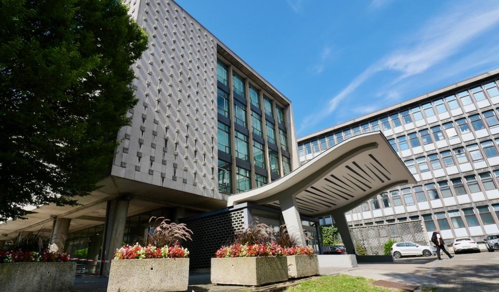
[{"label": "front concrete planter of the overlapping pair before the canopy entrance", "polygon": [[286,257],[212,258],[213,284],[260,286],[287,279]]}]

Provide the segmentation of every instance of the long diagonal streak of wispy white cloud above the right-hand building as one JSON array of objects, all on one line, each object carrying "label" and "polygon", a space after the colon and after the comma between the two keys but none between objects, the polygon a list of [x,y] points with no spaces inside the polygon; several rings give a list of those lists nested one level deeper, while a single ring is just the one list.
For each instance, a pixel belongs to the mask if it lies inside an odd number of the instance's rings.
[{"label": "long diagonal streak of wispy white cloud above the right-hand building", "polygon": [[398,76],[392,81],[393,85],[410,76],[421,74],[455,55],[464,44],[499,23],[499,5],[486,8],[470,13],[472,7],[460,6],[459,9],[446,11],[444,15],[431,19],[407,39],[404,47],[371,64],[332,97],[326,107],[305,117],[297,132],[301,133],[331,115],[345,97],[378,72],[397,73]]}]

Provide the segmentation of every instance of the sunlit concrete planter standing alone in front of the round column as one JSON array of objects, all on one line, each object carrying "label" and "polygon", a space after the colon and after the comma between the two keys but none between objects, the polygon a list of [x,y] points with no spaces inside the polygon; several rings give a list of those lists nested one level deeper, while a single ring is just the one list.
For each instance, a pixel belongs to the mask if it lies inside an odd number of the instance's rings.
[{"label": "sunlit concrete planter standing alone in front of the round column", "polygon": [[189,258],[113,260],[107,292],[186,291]]}]

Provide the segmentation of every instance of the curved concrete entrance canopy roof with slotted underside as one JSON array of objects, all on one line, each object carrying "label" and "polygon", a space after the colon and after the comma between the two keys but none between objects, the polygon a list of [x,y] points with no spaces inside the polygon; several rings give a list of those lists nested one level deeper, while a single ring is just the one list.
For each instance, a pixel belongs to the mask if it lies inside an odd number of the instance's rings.
[{"label": "curved concrete entrance canopy roof with slotted underside", "polygon": [[381,132],[373,132],[327,149],[276,181],[229,196],[228,206],[253,202],[281,208],[281,199],[293,197],[301,214],[317,217],[355,208],[407,183],[416,180]]}]

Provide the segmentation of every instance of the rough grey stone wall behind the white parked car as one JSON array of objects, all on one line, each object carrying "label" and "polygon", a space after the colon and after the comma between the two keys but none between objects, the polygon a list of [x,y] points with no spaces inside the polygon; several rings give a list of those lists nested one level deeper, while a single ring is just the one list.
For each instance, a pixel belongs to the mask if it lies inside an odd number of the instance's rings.
[{"label": "rough grey stone wall behind the white parked car", "polygon": [[350,234],[355,244],[365,247],[368,255],[383,255],[383,244],[390,239],[429,245],[426,229],[421,220],[354,227],[350,229]]}]

